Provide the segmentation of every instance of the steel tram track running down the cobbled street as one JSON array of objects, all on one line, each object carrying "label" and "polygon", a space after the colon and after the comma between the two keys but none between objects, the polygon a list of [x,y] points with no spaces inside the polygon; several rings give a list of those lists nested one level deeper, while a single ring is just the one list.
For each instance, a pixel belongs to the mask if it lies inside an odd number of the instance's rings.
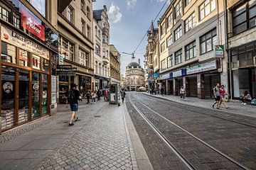
[{"label": "steel tram track running down the cobbled street", "polygon": [[[250,170],[250,167],[246,166],[242,162],[239,162],[238,160],[234,159],[233,157],[230,157],[228,154],[225,154],[224,152],[220,151],[216,147],[213,147],[213,145],[208,144],[208,142],[205,142],[200,137],[193,135],[193,133],[188,132],[188,130],[182,128],[180,125],[177,125],[173,121],[171,121],[168,118],[164,117],[163,115],[159,114],[157,111],[153,110],[149,106],[146,106],[146,104],[144,104],[142,101],[139,101],[137,98],[134,98],[134,96],[133,96],[133,98],[130,98],[130,100],[131,100],[130,103],[132,104],[134,109],[137,111],[137,113],[139,113],[139,115],[142,116],[142,118],[146,121],[146,123],[154,130],[154,132],[156,132],[156,134],[161,138],[161,140],[163,140],[166,143],[166,145],[169,146],[169,148],[176,154],[176,156],[181,160],[181,162],[183,162],[183,164],[185,164],[186,167],[188,167],[188,169],[202,169],[202,168],[199,168],[202,166],[200,166],[198,164],[195,165],[193,163],[193,160],[197,159],[197,157],[192,157],[192,159],[191,159],[191,155],[188,155],[187,152],[184,152],[184,149],[181,149],[180,146],[177,147],[175,145],[176,142],[174,142],[174,143],[172,142],[172,137],[170,137],[170,134],[168,132],[165,132],[163,130],[163,128],[161,128],[161,125],[156,125],[157,124],[156,122],[161,122],[161,124],[165,125],[165,127],[167,126],[167,127],[173,128],[173,129],[175,127],[176,130],[174,130],[174,131],[179,130],[183,133],[182,135],[184,135],[184,134],[188,135],[189,137],[186,137],[186,138],[189,138],[189,140],[188,140],[188,142],[185,142],[186,145],[191,145],[192,147],[195,146],[195,148],[197,148],[199,146],[199,149],[203,148],[203,151],[206,152],[206,153],[203,153],[204,155],[206,155],[206,158],[204,158],[204,159],[209,160],[210,156],[216,157],[216,158],[218,157],[218,159],[216,159],[217,160],[216,164],[222,164],[222,163],[226,164],[228,166],[227,169]],[[134,101],[136,101],[136,102],[134,102]],[[195,112],[195,111],[193,111],[193,112]],[[152,120],[152,118],[149,116],[149,113],[154,114],[155,120]],[[252,128],[254,128],[254,127],[252,127]],[[206,149],[206,147],[208,149]],[[196,151],[196,149],[194,149],[193,152],[200,152],[200,151]],[[207,155],[210,155],[210,156],[207,156]],[[215,164],[215,162],[210,162],[209,164],[213,164],[213,163]],[[205,162],[203,164],[207,165],[207,162]],[[230,164],[233,164],[233,165],[230,165]],[[223,167],[223,168],[225,168],[225,167]],[[211,169],[211,168],[209,168],[209,169]]]}]

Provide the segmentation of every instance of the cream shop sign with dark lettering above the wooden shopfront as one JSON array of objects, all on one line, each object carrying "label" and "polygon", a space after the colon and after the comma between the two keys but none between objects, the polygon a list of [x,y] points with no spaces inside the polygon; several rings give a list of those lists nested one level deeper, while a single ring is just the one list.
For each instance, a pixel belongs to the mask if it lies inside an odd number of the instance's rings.
[{"label": "cream shop sign with dark lettering above the wooden shopfront", "polygon": [[1,26],[1,40],[16,47],[20,47],[23,50],[27,50],[28,52],[32,52],[33,54],[47,60],[50,58],[49,51],[46,50],[46,48],[4,26]]}]

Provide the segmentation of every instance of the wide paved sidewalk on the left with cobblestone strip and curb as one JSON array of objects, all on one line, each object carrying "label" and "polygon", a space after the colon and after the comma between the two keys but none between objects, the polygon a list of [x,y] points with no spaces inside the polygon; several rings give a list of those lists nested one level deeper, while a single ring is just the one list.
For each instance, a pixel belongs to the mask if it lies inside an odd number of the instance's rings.
[{"label": "wide paved sidewalk on the left with cobblestone strip and curb", "polygon": [[47,123],[0,144],[0,169],[151,169],[124,104],[81,104],[71,127],[70,111],[59,108]]}]

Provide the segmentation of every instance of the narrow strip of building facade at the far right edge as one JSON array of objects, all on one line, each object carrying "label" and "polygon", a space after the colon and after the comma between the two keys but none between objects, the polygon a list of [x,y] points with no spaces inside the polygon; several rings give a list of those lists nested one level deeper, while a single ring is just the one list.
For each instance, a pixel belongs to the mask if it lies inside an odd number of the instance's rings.
[{"label": "narrow strip of building facade at the far right edge", "polygon": [[240,98],[248,91],[256,98],[256,1],[230,0],[228,13],[228,55],[230,94]]}]

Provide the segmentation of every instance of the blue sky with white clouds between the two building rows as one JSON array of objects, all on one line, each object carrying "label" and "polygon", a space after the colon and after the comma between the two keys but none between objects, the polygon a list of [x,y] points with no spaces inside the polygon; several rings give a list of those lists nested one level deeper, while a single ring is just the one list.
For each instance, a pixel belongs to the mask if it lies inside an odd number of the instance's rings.
[{"label": "blue sky with white clouds between the two building rows", "polygon": [[[121,74],[124,74],[127,64],[132,62],[132,55],[125,55],[122,52],[134,52],[146,31],[149,30],[151,21],[156,18],[165,2],[166,0],[96,0],[93,3],[94,10],[107,6],[110,20],[110,44],[113,44],[121,54]],[[155,28],[167,7],[166,4],[156,19]],[[134,61],[138,62],[140,59],[142,67],[144,67],[146,45],[147,36],[134,54]]]}]

